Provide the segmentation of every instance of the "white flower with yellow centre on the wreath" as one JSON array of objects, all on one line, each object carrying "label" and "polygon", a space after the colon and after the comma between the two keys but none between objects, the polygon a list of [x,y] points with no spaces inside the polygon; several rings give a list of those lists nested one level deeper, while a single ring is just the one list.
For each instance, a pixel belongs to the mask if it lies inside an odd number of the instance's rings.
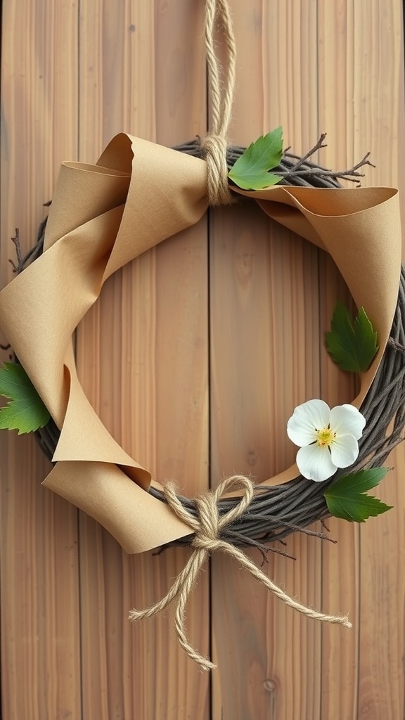
[{"label": "white flower with yellow centre on the wreath", "polygon": [[324,400],[298,405],[288,420],[287,434],[300,447],[296,462],[301,475],[322,482],[338,467],[352,465],[364,426],[364,415],[353,405],[330,409]]}]

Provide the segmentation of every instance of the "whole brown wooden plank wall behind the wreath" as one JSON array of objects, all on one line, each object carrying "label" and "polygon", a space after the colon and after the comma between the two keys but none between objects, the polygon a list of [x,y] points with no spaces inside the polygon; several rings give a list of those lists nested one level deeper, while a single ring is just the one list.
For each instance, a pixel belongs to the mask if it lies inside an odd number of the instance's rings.
[{"label": "whole brown wooden plank wall behind the wreath", "polygon": [[[231,139],[282,125],[297,153],[363,184],[404,173],[401,0],[230,0],[238,48]],[[94,162],[120,130],[173,145],[207,127],[203,0],[4,0],[1,284],[9,238],[34,239],[63,159]],[[344,238],[342,238],[344,242]],[[361,272],[361,267],[359,267]],[[287,467],[294,405],[352,388],[322,333],[341,279],[316,248],[242,204],[113,277],[77,334],[87,395],[158,480],[192,495],[226,474]],[[320,349],[321,348],[321,349]],[[6,358],[6,354],[4,354]],[[394,509],[337,544],[295,535],[268,572],[304,603],[349,612],[351,631],[306,620],[214,557],[187,614],[218,670],[179,650],[161,597],[188,551],[128,557],[44,490],[32,438],[0,437],[4,720],[399,720],[404,717],[404,448],[379,490]],[[260,558],[253,555],[259,562]]]}]

